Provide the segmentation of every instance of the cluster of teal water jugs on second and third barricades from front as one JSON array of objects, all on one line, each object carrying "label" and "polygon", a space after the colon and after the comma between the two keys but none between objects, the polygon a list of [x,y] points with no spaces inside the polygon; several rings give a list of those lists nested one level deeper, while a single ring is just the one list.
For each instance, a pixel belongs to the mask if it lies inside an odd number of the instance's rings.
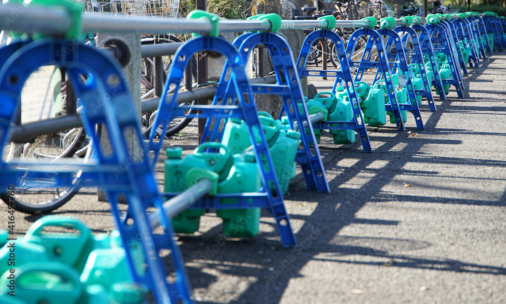
[{"label": "cluster of teal water jugs on second and third barricades from front", "polygon": [[[269,152],[281,191],[285,194],[294,177],[295,158],[301,134],[275,120],[265,112],[259,113]],[[192,155],[182,158],[179,147],[167,149],[165,161],[165,192],[183,192],[202,178],[209,179],[215,188],[209,195],[258,192],[262,187],[260,172],[251,149],[249,127],[244,120],[231,118],[226,123],[221,143],[206,142]],[[255,139],[260,141],[260,136]],[[266,160],[263,160],[264,162]],[[271,190],[274,190],[271,188]],[[222,198],[220,203],[236,203],[238,198]],[[186,209],[172,222],[177,233],[194,233],[200,225],[203,209]],[[220,209],[223,233],[229,237],[254,237],[258,233],[260,208]]]}]

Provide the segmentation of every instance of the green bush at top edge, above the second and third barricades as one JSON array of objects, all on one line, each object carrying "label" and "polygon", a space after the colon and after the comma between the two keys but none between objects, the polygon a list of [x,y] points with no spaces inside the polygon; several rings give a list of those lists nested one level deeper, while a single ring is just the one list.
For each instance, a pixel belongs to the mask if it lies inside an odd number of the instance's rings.
[{"label": "green bush at top edge, above the second and third barricades", "polygon": [[[179,15],[185,18],[197,7],[196,0],[180,0]],[[207,0],[207,11],[227,19],[243,19],[243,1],[241,0]]]}]

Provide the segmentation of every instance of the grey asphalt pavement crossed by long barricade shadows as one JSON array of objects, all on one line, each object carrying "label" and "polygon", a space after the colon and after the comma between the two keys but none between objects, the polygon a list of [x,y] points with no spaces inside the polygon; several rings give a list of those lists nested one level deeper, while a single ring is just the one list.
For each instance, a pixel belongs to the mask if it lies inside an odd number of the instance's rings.
[{"label": "grey asphalt pavement crossed by long barricade shadows", "polygon": [[[322,138],[332,193],[307,191],[299,170],[285,199],[299,248],[280,246],[268,212],[248,240],[224,240],[221,220],[203,216],[199,233],[179,237],[196,301],[506,303],[505,66],[498,54],[470,69],[465,99],[451,89],[437,112],[424,101],[426,129],[412,115],[406,123],[417,137],[393,124],[368,127],[370,154]],[[98,233],[114,228],[108,210],[85,189],[54,214]],[[0,214],[7,222],[4,204]],[[18,213],[16,233],[38,218]]]}]

